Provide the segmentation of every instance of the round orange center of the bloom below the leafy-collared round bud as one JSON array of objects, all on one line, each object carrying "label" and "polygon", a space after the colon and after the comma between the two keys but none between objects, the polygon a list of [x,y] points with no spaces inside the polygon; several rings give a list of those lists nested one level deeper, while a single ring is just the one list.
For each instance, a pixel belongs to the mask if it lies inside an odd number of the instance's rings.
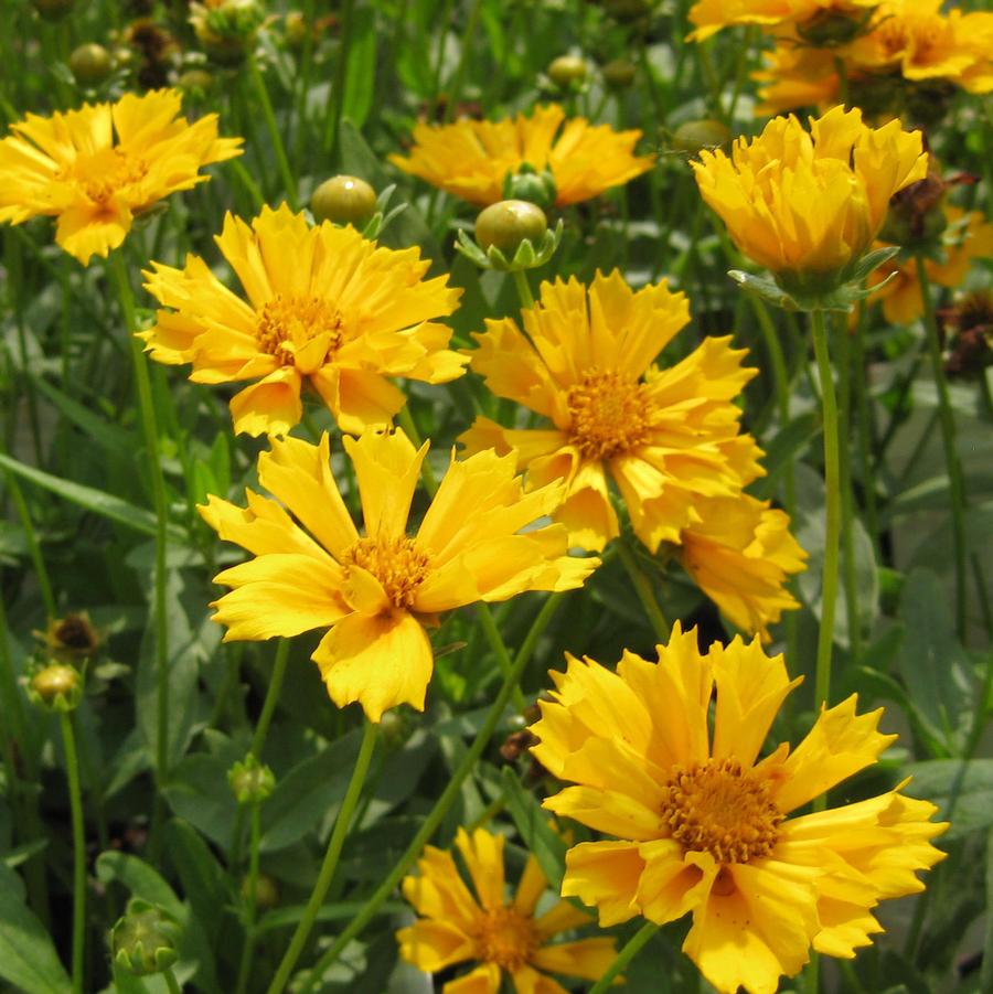
[{"label": "round orange center of the bloom below the leafy-collared round bud", "polygon": [[566,394],[570,441],[586,459],[610,459],[641,445],[651,402],[644,385],[613,370],[587,370]]}]

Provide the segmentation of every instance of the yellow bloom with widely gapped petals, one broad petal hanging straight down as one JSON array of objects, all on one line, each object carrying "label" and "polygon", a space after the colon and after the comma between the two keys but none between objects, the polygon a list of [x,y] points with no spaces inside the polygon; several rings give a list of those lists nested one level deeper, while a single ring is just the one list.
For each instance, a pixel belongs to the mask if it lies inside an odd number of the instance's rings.
[{"label": "yellow bloom with widely gapped petals, one broad petal hanging straight down", "polygon": [[327,629],[311,659],[339,707],[357,701],[372,722],[402,703],[423,709],[433,667],[425,626],[441,611],[569,590],[599,565],[568,555],[562,525],[522,533],[558,504],[563,488],[523,493],[513,457],[453,461],[410,536],[427,443],[415,451],[405,435],[370,431],[344,448],[364,532],[331,475],[327,434],[317,446],[274,438],[259,456],[259,482],[275,500],[246,490],[247,507],[211,496],[200,509],[222,538],[255,557],[214,578],[233,588],[213,605],[225,641]]}]

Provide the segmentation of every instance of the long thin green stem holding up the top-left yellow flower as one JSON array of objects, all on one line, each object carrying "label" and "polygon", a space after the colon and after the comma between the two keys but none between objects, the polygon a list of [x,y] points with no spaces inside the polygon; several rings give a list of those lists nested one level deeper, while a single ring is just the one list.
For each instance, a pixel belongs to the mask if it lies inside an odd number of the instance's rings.
[{"label": "long thin green stem holding up the top-left yellow flower", "polygon": [[[135,297],[125,268],[124,253],[118,249],[110,254],[110,274],[117,285],[120,309],[124,313],[125,329],[131,344],[131,360],[135,365],[135,386],[138,393],[138,410],[141,430],[145,435],[145,447],[151,470],[152,499],[156,505],[156,570],[154,570],[154,620],[156,620],[156,779],[161,788],[169,770],[169,622],[166,617],[166,543],[169,509],[166,499],[166,479],[162,475],[162,461],[159,452],[159,429],[156,423],[156,408],[152,400],[151,377],[148,361],[145,357],[142,343],[136,339],[134,331]],[[156,811],[161,817],[161,793],[157,793]],[[152,817],[152,830],[158,821]],[[152,840],[156,834],[152,832]]]}]

